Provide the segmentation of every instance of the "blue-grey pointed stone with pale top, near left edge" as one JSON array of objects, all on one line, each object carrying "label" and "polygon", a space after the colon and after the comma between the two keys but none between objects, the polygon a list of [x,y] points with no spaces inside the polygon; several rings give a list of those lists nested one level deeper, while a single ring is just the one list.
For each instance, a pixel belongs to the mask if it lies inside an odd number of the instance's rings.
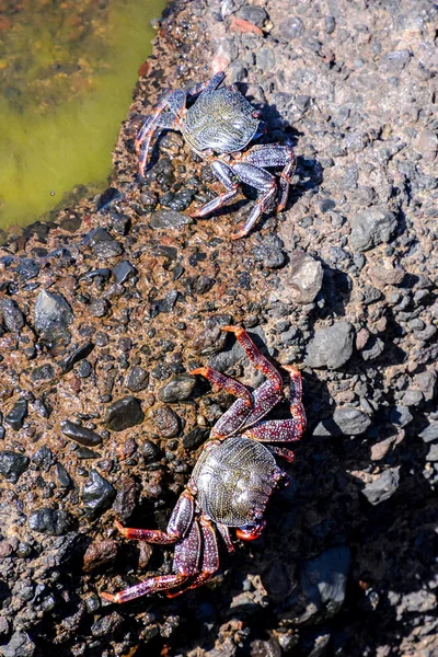
[{"label": "blue-grey pointed stone with pale top, near left edge", "polygon": [[35,301],[34,325],[42,342],[49,348],[69,344],[71,335],[67,326],[73,319],[73,312],[62,295],[44,289],[39,292]]}]

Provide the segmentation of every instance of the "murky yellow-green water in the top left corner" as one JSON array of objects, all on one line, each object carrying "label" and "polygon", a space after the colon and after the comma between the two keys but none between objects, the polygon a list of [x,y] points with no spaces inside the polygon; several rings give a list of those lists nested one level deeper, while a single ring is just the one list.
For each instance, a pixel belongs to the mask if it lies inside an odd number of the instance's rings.
[{"label": "murky yellow-green water in the top left corner", "polygon": [[0,0],[0,228],[31,223],[77,185],[104,188],[164,7]]}]

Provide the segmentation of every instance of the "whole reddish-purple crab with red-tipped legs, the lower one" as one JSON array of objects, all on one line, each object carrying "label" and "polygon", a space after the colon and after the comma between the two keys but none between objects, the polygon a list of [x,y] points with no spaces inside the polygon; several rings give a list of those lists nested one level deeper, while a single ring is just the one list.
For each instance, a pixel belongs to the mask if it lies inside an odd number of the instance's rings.
[{"label": "whole reddish-purple crab with red-tipped legs, the lower one", "polygon": [[205,584],[219,568],[215,527],[229,552],[234,551],[231,528],[238,539],[257,539],[266,525],[264,515],[269,497],[278,483],[287,479],[275,454],[291,462],[293,452],[272,443],[299,440],[306,429],[301,374],[295,366],[283,366],[290,377],[291,417],[264,420],[285,399],[281,376],[242,327],[223,326],[222,331],[234,333],[250,361],[266,379],[252,393],[235,379],[210,367],[191,372],[238,399],[212,427],[166,531],[125,528],[116,521],[127,539],[162,545],[175,543],[175,550],[171,574],[149,577],[117,593],[101,592],[110,602],[126,602],[157,591],[166,591],[173,598]]}]

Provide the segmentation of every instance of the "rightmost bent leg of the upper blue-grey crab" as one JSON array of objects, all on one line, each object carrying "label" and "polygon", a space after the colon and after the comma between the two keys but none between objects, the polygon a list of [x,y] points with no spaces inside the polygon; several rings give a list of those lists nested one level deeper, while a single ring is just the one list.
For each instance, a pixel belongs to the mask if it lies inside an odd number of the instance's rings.
[{"label": "rightmost bent leg of the upper blue-grey crab", "polygon": [[291,145],[257,145],[243,153],[240,161],[258,168],[284,166],[280,175],[280,198],[277,206],[277,212],[281,212],[285,209],[289,185],[297,168],[297,159]]}]

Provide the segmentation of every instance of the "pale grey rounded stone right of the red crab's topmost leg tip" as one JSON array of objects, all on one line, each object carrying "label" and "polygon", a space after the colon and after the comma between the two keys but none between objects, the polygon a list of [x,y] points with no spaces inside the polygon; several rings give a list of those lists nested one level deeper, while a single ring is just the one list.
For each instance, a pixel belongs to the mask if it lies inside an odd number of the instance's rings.
[{"label": "pale grey rounded stone right of the red crab's topmost leg tip", "polygon": [[336,322],[326,328],[319,328],[308,346],[306,365],[337,369],[353,354],[354,328],[349,322]]}]

